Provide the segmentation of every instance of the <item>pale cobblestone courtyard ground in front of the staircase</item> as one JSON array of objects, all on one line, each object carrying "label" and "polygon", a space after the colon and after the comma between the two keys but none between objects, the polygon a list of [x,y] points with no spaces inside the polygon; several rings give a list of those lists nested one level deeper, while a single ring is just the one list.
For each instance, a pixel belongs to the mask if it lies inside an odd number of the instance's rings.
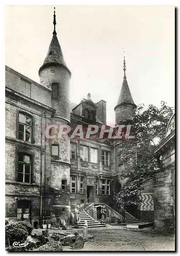
[{"label": "pale cobblestone courtyard ground in front of the staircase", "polygon": [[[74,231],[68,230],[71,233]],[[82,229],[76,231],[80,234],[83,232]],[[134,231],[120,227],[89,228],[88,234],[94,238],[85,242],[84,248],[73,250],[70,246],[63,246],[63,251],[174,251],[172,235],[156,234],[149,229]]]}]

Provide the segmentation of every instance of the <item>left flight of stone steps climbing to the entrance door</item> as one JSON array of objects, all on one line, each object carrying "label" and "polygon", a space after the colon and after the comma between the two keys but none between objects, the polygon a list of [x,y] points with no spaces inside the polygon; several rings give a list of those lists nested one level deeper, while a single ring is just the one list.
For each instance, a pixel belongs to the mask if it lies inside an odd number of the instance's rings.
[{"label": "left flight of stone steps climbing to the entrance door", "polygon": [[80,224],[79,228],[83,228],[84,221],[87,221],[88,228],[89,227],[105,227],[105,224],[100,223],[99,221],[94,220],[91,216],[87,214],[84,210],[84,205],[79,207],[79,217],[80,217]]}]

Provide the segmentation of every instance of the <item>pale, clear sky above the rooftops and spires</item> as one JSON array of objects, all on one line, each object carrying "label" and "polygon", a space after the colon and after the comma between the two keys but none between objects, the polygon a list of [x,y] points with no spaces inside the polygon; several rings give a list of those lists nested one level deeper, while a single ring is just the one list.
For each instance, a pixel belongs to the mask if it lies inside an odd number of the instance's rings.
[{"label": "pale, clear sky above the rooftops and spires", "polygon": [[[6,6],[5,63],[39,82],[38,70],[53,33],[54,6]],[[175,32],[173,6],[56,6],[56,32],[72,72],[70,100],[107,102],[114,126],[126,77],[134,102],[174,106]],[[123,52],[123,48],[125,53]]]}]

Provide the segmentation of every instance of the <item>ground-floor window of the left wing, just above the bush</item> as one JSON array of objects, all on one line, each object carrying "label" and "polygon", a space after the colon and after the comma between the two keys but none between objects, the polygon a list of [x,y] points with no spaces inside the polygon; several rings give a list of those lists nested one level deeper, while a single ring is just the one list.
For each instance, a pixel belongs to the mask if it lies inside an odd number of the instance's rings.
[{"label": "ground-floor window of the left wing, just above the bush", "polygon": [[30,201],[19,200],[17,202],[17,219],[24,220],[30,218]]}]

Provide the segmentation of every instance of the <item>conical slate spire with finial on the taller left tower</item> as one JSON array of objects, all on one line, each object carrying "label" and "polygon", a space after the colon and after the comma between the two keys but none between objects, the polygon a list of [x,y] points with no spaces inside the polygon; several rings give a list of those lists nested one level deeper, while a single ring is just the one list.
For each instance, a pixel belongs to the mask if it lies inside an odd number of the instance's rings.
[{"label": "conical slate spire with finial on the taller left tower", "polygon": [[61,50],[61,47],[59,45],[59,41],[58,41],[58,38],[57,38],[55,7],[54,7],[53,24],[54,24],[53,37],[51,39],[50,46],[49,46],[46,58],[44,59],[43,65],[40,67],[39,72],[44,66],[61,65],[61,66],[65,67],[71,73],[71,71],[66,66],[66,63],[65,63],[64,57],[63,57],[63,53],[62,53],[62,50]]}]

